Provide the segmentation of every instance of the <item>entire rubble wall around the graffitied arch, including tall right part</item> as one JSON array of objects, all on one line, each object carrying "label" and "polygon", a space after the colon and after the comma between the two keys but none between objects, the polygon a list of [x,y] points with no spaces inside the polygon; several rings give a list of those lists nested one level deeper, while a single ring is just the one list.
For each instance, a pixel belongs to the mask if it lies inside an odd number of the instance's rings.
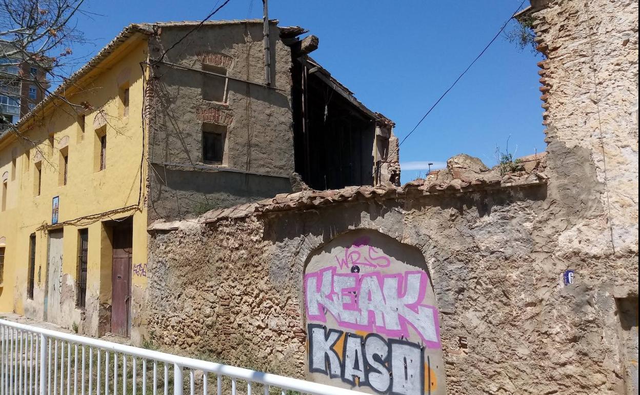
[{"label": "entire rubble wall around the graffitied arch, including tall right part", "polygon": [[[638,4],[543,3],[547,182],[151,230],[150,340],[307,376],[305,262],[368,229],[424,255],[447,394],[637,393]],[[459,163],[445,179],[486,172]]]}]

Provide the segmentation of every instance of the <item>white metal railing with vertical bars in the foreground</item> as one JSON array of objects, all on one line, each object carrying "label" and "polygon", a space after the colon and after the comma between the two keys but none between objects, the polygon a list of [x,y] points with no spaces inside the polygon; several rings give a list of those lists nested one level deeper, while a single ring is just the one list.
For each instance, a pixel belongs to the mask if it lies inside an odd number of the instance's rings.
[{"label": "white metal railing with vertical bars in the foreground", "polygon": [[[209,378],[215,382],[209,384]],[[1,395],[362,395],[0,319]]]}]

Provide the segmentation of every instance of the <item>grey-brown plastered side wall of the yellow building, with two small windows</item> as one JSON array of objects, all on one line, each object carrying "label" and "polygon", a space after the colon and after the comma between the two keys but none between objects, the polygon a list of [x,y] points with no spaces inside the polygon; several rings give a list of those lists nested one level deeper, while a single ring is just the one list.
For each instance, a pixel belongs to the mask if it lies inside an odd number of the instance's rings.
[{"label": "grey-brown plastered side wall of the yellow building, with two small windows", "polygon": [[[151,62],[190,29],[161,26],[149,40]],[[167,52],[163,61],[200,70],[211,59],[225,65],[228,76],[264,85],[262,23],[205,24]],[[290,69],[291,49],[278,39],[275,23],[271,24],[271,88],[228,79],[227,100],[216,103],[205,101],[202,95],[204,79],[212,76],[164,63],[152,67],[147,108],[153,167],[150,222],[291,191]],[[203,163],[203,122],[228,128],[221,166]]]}]

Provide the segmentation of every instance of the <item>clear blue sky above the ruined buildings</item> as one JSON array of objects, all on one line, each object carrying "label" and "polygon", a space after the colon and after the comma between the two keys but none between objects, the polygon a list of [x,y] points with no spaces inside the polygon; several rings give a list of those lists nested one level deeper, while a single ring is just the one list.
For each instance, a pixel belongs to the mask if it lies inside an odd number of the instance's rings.
[{"label": "clear blue sky above the ruined buildings", "polygon": [[[317,35],[314,58],[366,106],[394,120],[402,139],[520,1],[270,0],[269,17]],[[78,27],[91,43],[74,48],[74,56],[88,59],[131,22],[200,20],[216,3],[86,0],[84,10],[95,15],[79,18]],[[261,16],[261,0],[231,0],[214,19]],[[402,145],[402,181],[461,152],[495,165],[496,146],[506,149],[508,139],[515,156],[543,151],[540,59],[498,38]]]}]

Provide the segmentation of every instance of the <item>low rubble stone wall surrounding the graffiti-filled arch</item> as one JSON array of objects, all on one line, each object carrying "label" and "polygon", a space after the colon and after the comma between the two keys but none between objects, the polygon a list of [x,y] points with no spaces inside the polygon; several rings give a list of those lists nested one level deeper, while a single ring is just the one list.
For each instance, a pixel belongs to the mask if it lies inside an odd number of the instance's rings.
[{"label": "low rubble stone wall surrounding the graffiti-filled arch", "polygon": [[[559,297],[537,286],[546,276],[557,288],[555,273],[532,273],[545,196],[532,186],[181,222],[150,238],[149,333],[161,346],[304,376],[305,260],[339,234],[372,229],[426,258],[447,393],[545,393],[552,385],[540,378],[556,368],[545,362],[547,334],[538,328],[556,325]],[[572,309],[582,315],[588,305]]]}]

